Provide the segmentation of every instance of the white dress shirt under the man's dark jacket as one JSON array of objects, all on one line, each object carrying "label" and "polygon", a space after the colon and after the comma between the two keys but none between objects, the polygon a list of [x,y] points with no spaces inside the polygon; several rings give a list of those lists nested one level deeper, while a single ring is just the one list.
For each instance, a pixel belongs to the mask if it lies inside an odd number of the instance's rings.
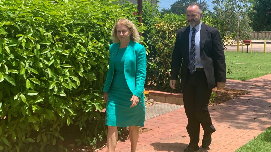
[{"label": "white dress shirt under the man's dark jacket", "polygon": [[[200,54],[200,31],[201,31],[202,22],[195,26],[196,29],[196,35],[195,35],[195,68],[203,68],[202,62],[201,62],[201,54]],[[190,26],[190,32],[189,32],[189,56],[190,56],[190,49],[191,49],[191,37],[193,32],[193,27]],[[189,67],[189,65],[188,65]]]}]

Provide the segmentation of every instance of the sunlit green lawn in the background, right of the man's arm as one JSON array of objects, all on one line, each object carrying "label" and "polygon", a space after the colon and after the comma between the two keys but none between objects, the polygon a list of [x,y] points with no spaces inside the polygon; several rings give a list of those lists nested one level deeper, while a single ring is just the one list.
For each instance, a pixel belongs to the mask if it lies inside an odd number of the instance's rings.
[{"label": "sunlit green lawn in the background, right of the man's arm", "polygon": [[225,51],[227,79],[246,81],[271,73],[271,53]]}]

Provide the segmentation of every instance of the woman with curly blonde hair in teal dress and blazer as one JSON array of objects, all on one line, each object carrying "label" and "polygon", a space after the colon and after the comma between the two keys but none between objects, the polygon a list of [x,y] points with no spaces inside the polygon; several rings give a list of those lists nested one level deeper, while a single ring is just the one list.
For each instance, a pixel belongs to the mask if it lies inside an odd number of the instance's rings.
[{"label": "woman with curly blonde hair in teal dress and blazer", "polygon": [[139,43],[138,31],[128,19],[119,19],[114,25],[109,47],[109,69],[103,88],[107,103],[108,152],[115,151],[117,127],[129,126],[131,152],[135,152],[139,126],[145,122],[144,84],[146,77],[145,47]]}]

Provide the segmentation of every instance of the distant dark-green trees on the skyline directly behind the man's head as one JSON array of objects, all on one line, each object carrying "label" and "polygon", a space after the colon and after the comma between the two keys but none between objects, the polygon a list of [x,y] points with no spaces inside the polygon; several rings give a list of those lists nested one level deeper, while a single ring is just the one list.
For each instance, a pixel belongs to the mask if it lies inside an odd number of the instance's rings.
[{"label": "distant dark-green trees on the skyline directly behind the man's head", "polygon": [[[186,12],[186,8],[190,3],[193,2],[197,2],[199,3],[199,1],[197,0],[178,0],[175,3],[170,5],[169,9],[161,9],[161,14],[165,14],[165,13],[174,13],[174,14],[185,14]],[[202,11],[207,11],[208,10],[208,4],[205,0],[201,1],[201,5],[202,5]]]}]

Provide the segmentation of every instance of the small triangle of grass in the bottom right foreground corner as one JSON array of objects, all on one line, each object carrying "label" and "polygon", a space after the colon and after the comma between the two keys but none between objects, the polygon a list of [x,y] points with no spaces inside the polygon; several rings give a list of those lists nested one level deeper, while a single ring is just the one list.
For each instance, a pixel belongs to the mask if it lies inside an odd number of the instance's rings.
[{"label": "small triangle of grass in the bottom right foreground corner", "polygon": [[270,152],[271,151],[271,127],[255,139],[246,143],[235,152]]}]

